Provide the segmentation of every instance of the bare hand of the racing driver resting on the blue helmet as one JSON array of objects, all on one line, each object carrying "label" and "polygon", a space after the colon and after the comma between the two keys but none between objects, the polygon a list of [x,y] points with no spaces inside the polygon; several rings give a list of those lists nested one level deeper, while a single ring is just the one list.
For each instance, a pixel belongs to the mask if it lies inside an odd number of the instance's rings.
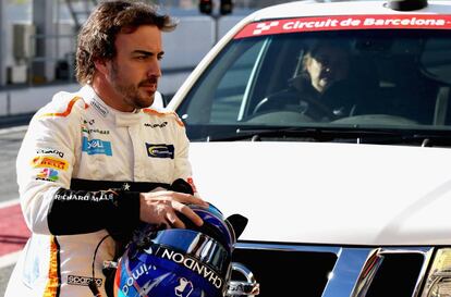
[{"label": "bare hand of the racing driver resting on the blue helmet", "polygon": [[157,190],[139,194],[139,219],[143,222],[166,225],[169,227],[184,228],[185,224],[176,215],[184,214],[197,226],[202,226],[202,219],[186,205],[194,203],[208,207],[200,198],[190,194],[172,190]]}]

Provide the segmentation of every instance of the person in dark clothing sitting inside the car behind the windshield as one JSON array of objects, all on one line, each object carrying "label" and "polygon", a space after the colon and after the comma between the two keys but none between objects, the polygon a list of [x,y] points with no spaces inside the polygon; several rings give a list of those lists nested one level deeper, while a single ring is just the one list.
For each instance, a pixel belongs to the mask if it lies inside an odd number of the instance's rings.
[{"label": "person in dark clothing sitting inside the car behind the windshield", "polygon": [[289,107],[315,121],[332,121],[353,113],[365,97],[364,79],[353,73],[350,47],[340,40],[322,40],[307,49],[302,71],[290,81],[290,87],[265,98],[255,112]]}]

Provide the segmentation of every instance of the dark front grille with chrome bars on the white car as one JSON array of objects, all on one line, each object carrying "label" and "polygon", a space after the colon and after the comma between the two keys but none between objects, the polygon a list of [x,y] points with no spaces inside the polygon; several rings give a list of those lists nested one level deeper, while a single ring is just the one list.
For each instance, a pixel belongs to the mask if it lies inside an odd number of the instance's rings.
[{"label": "dark front grille with chrome bars on the white car", "polygon": [[428,247],[239,243],[233,262],[253,272],[259,297],[415,297],[431,252]]}]

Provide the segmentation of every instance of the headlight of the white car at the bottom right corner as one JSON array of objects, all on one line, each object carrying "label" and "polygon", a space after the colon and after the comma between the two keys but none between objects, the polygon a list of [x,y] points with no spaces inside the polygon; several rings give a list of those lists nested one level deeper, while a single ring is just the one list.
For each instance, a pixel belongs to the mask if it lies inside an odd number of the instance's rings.
[{"label": "headlight of the white car at the bottom right corner", "polygon": [[451,248],[437,250],[422,297],[451,297]]}]

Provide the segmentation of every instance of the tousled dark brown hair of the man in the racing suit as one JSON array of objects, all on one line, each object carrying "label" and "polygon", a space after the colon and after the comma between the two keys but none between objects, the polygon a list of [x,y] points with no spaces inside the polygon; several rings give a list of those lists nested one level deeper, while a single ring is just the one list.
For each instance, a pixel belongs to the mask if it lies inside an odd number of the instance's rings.
[{"label": "tousled dark brown hair of the man in the racing suit", "polygon": [[139,1],[115,0],[101,2],[83,25],[77,40],[76,79],[82,85],[93,79],[94,61],[115,57],[114,41],[119,33],[133,33],[142,25],[155,25],[171,32],[176,22],[158,14],[157,7]]}]

